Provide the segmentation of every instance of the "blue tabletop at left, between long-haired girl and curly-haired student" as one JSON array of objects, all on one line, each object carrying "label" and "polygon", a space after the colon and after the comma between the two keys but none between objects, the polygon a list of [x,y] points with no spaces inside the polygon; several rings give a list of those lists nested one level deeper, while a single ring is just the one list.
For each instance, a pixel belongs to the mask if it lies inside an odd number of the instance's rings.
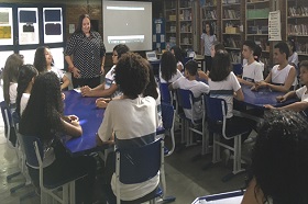
[{"label": "blue tabletop at left, between long-haired girl and curly-haired student", "polygon": [[75,90],[65,91],[64,115],[77,115],[82,127],[82,135],[78,138],[63,137],[63,143],[72,156],[80,156],[108,146],[97,147],[96,133],[103,118],[103,109],[96,107],[97,98],[84,98]]}]

